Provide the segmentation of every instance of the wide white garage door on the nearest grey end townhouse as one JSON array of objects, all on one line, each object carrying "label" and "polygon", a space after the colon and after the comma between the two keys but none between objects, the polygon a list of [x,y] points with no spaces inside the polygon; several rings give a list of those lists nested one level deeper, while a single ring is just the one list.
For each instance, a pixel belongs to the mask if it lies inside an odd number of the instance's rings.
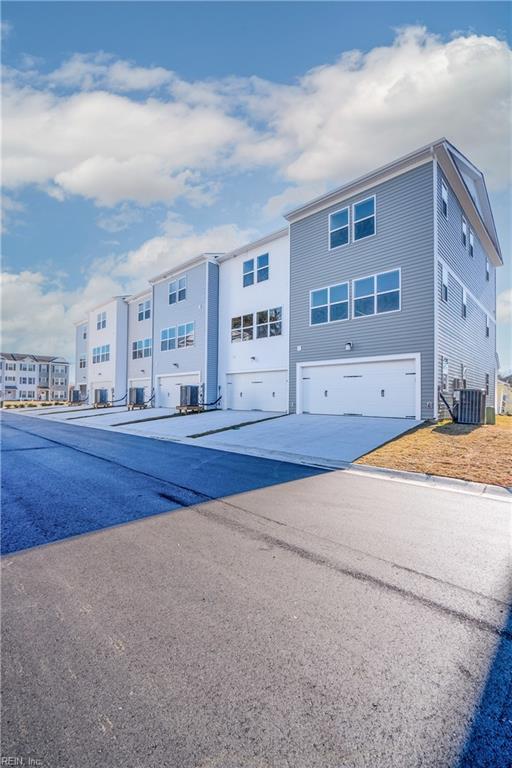
[{"label": "wide white garage door on the nearest grey end townhouse", "polygon": [[304,413],[416,416],[416,361],[386,360],[301,369]]}]

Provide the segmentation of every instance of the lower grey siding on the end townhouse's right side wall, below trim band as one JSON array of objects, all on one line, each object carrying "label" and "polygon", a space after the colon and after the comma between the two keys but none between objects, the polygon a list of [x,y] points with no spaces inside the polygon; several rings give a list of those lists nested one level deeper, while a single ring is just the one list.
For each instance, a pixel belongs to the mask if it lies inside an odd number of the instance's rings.
[{"label": "lower grey siding on the end townhouse's right side wall, below trim band", "polygon": [[[494,406],[496,375],[496,326],[489,323],[489,338],[485,335],[486,312],[467,295],[467,316],[462,317],[463,286],[448,275],[448,302],[442,300],[442,266],[438,265],[438,352],[439,385],[442,385],[441,358],[448,358],[448,402],[452,401],[453,380],[462,378],[462,365],[467,368],[469,388],[485,389],[485,374],[489,374],[487,405]],[[447,412],[440,403],[440,416]]]}]

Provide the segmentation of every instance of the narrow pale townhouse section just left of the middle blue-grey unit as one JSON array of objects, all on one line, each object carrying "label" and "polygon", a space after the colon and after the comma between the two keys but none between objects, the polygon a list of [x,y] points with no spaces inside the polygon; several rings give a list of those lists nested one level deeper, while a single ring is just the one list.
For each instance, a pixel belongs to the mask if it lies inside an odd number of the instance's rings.
[{"label": "narrow pale townhouse section just left of the middle blue-grey unit", "polygon": [[144,400],[149,404],[152,395],[151,368],[153,354],[153,311],[151,289],[128,302],[128,385],[144,388]]}]

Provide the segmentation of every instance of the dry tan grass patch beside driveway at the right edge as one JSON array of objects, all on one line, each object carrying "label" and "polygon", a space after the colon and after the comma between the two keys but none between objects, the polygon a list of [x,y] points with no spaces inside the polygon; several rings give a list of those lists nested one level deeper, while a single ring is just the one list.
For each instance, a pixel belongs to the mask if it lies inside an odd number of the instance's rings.
[{"label": "dry tan grass patch beside driveway at the right edge", "polygon": [[512,486],[512,417],[474,427],[426,424],[377,448],[356,464]]}]

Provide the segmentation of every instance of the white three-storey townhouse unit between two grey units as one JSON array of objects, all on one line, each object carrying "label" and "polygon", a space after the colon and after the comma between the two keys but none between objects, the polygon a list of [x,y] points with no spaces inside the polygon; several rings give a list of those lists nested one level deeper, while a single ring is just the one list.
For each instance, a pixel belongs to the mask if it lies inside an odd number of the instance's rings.
[{"label": "white three-storey townhouse unit between two grey units", "polygon": [[288,229],[219,256],[221,407],[287,411]]}]

